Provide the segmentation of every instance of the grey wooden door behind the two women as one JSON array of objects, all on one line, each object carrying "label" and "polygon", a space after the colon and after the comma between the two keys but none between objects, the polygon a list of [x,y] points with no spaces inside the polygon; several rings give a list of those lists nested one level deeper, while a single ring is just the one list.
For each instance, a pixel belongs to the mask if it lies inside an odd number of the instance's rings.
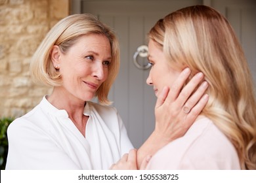
[{"label": "grey wooden door behind the two women", "polygon": [[[146,34],[159,18],[190,5],[209,5],[228,17],[245,49],[256,80],[256,18],[255,0],[74,0],[73,13],[95,14],[116,31],[121,48],[121,67],[110,92],[135,148],[148,138],[154,129],[156,97],[146,85],[148,70],[133,63],[138,46],[147,44]],[[147,60],[138,58],[141,65]]]}]

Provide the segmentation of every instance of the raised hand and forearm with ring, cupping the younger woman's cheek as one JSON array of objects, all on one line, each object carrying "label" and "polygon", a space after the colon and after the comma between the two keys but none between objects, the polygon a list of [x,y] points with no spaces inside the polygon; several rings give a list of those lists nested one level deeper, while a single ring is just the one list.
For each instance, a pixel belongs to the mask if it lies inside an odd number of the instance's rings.
[{"label": "raised hand and forearm with ring, cupping the younger woman's cheek", "polygon": [[[203,75],[194,76],[184,86],[189,75],[190,70],[184,69],[171,90],[169,88],[163,89],[158,97],[155,107],[156,127],[137,151],[138,167],[140,167],[144,157],[154,155],[169,142],[182,137],[205,107],[208,95],[203,95],[203,93],[207,89],[207,83],[203,82],[194,92],[195,88],[202,82]],[[182,110],[184,106],[190,108],[188,113]]]}]

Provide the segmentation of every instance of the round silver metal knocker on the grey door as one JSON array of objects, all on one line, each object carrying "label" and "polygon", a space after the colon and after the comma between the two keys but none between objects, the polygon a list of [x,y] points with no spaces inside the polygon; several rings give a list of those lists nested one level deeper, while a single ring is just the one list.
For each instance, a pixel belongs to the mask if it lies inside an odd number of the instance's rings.
[{"label": "round silver metal knocker on the grey door", "polygon": [[137,48],[137,52],[133,55],[133,63],[138,67],[139,69],[146,70],[151,67],[151,64],[148,63],[147,65],[140,65],[137,57],[140,56],[141,58],[146,58],[148,56],[148,46],[141,45]]}]

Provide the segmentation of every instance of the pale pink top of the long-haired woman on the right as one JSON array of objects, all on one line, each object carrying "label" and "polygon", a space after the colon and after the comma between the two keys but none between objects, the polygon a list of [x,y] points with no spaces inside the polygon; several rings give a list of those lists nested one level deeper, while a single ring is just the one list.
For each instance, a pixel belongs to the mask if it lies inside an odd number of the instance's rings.
[{"label": "pale pink top of the long-haired woman on the right", "polygon": [[232,142],[209,118],[201,118],[161,148],[147,169],[240,169],[240,163]]}]

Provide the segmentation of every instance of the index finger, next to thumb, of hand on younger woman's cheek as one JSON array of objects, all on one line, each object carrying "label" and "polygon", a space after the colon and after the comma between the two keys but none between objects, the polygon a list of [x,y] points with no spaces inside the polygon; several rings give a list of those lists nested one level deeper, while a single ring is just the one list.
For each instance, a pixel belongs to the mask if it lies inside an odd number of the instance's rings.
[{"label": "index finger, next to thumb, of hand on younger woman's cheek", "polygon": [[177,80],[175,80],[175,82],[173,82],[172,86],[171,86],[171,92],[168,93],[167,98],[165,99],[165,101],[167,103],[171,103],[172,101],[174,101],[175,99],[177,99],[177,97],[179,96],[179,93],[181,92],[181,89],[183,88],[186,79],[190,76],[190,69],[187,67],[186,69],[184,69],[181,74],[178,76]]}]

